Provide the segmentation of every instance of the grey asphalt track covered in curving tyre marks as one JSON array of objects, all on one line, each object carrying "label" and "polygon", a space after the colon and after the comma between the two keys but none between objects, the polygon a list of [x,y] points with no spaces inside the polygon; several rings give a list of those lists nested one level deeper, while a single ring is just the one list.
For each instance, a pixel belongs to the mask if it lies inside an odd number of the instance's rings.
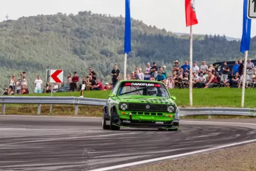
[{"label": "grey asphalt track covered in curving tyre marks", "polygon": [[0,116],[0,170],[93,170],[256,139],[256,119],[207,121],[106,131],[99,118]]}]

